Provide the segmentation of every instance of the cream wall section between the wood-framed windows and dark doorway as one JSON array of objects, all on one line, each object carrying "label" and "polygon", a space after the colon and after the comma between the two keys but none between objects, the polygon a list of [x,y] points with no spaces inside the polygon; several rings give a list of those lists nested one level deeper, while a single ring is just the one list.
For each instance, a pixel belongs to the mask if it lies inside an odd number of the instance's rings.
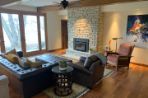
[{"label": "cream wall section between the wood-framed windows and dark doorway", "polygon": [[[65,13],[65,14],[64,14]],[[61,19],[67,19],[66,12],[50,11],[47,12],[47,49],[54,50],[62,48],[61,42]]]}]

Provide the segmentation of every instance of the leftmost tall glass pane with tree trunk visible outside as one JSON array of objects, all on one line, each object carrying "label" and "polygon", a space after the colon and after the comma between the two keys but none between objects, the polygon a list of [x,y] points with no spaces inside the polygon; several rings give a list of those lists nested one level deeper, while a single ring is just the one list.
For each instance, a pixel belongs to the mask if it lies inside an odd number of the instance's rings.
[{"label": "leftmost tall glass pane with tree trunk visible outside", "polygon": [[1,21],[5,51],[22,50],[18,14],[1,13]]}]

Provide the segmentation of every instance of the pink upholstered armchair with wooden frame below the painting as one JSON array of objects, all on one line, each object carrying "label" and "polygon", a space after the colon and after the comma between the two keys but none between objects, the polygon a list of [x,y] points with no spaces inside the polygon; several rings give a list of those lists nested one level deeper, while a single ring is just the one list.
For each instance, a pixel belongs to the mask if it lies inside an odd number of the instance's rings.
[{"label": "pink upholstered armchair with wooden frame below the painting", "polygon": [[123,43],[120,45],[118,52],[110,52],[107,54],[107,64],[116,66],[116,69],[120,67],[129,68],[131,54],[134,50],[134,45],[130,43]]}]

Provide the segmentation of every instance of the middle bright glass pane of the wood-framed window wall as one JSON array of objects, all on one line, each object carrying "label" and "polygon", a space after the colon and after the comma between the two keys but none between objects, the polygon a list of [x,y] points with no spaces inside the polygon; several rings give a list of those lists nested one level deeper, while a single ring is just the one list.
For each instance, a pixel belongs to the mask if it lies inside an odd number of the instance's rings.
[{"label": "middle bright glass pane of the wood-framed window wall", "polygon": [[37,16],[24,15],[26,52],[39,50]]}]

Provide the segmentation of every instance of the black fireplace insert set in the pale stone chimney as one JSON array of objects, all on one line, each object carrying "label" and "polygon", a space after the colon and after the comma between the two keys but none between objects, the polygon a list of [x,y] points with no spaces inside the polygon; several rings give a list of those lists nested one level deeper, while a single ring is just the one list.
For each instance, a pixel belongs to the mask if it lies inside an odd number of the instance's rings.
[{"label": "black fireplace insert set in the pale stone chimney", "polygon": [[88,52],[89,39],[74,38],[73,45],[74,45],[74,50]]}]

